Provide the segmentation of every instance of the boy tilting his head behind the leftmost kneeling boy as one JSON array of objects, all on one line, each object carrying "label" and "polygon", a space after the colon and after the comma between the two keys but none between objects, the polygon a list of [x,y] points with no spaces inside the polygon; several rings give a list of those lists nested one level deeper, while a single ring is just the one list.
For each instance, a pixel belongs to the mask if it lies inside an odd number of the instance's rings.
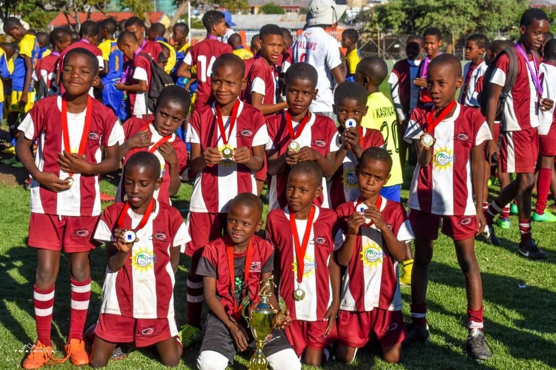
[{"label": "boy tilting his head behind the leftmost kneeling boy", "polygon": [[[187,148],[176,135],[189,113],[189,94],[176,85],[162,89],[158,96],[155,119],[145,124],[140,118],[130,118],[123,124],[126,141],[120,146],[120,156],[125,165],[129,157],[137,151],[149,151],[160,161],[162,184],[155,191],[155,199],[172,204],[170,197],[180,190],[181,174],[187,168]],[[123,201],[123,174],[120,180],[120,197]]]}]

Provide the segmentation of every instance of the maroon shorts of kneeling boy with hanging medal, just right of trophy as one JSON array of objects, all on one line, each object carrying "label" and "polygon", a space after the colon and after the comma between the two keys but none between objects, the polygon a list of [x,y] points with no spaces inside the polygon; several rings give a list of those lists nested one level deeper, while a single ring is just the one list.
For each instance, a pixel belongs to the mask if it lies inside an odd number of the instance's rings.
[{"label": "maroon shorts of kneeling boy with hanging medal, just right of trophy", "polygon": [[305,348],[322,351],[323,348],[336,340],[336,325],[332,326],[330,334],[325,337],[324,333],[327,326],[328,321],[294,320],[284,331],[297,356],[301,356]]}]

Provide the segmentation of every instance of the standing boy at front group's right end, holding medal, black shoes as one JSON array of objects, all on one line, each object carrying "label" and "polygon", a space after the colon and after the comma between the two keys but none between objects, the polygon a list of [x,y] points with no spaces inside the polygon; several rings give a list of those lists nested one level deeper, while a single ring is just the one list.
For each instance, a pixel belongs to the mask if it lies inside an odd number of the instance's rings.
[{"label": "standing boy at front group's right end, holding medal, black shoes", "polygon": [[[475,359],[491,354],[483,334],[483,288],[475,256],[475,236],[485,227],[481,200],[484,190],[483,142],[490,140],[484,117],[475,108],[455,102],[461,87],[461,64],[451,54],[430,62],[426,78],[432,111],[411,113],[404,140],[413,142],[418,164],[411,180],[409,221],[415,232],[411,275],[411,323],[406,341],[429,338],[426,321],[426,286],[433,242],[442,233],[454,240],[456,256],[465,276],[469,334],[466,349]],[[473,180],[473,182],[471,182]],[[473,204],[473,190],[479,201]]]}]

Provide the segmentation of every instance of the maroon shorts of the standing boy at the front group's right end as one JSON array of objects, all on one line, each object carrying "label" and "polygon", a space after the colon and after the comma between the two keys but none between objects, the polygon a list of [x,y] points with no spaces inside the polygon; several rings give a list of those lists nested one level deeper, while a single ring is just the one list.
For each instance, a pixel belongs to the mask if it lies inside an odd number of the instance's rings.
[{"label": "maroon shorts of the standing boy at the front group's right end", "polygon": [[409,210],[409,223],[415,235],[422,235],[426,239],[438,239],[438,227],[442,219],[442,234],[455,241],[475,237],[479,225],[476,216],[441,216],[429,212]]}]

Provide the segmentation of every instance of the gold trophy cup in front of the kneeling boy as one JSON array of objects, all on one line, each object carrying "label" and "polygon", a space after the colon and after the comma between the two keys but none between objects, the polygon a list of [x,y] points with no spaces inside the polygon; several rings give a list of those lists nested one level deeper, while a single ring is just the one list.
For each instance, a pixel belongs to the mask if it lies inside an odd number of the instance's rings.
[{"label": "gold trophy cup in front of the kneeling boy", "polygon": [[[249,296],[245,297],[242,304],[244,309],[242,315],[247,321],[247,325],[251,328],[251,333],[256,341],[255,353],[249,359],[249,370],[266,370],[269,362],[265,354],[262,353],[262,347],[269,334],[276,328],[279,321],[279,313],[284,315],[286,311],[286,303],[280,298],[280,310],[274,308],[269,301],[272,291],[276,285],[274,284],[274,276],[261,280],[261,289],[259,291],[259,302],[249,306]],[[249,311],[249,315],[245,315],[245,309]]]}]

